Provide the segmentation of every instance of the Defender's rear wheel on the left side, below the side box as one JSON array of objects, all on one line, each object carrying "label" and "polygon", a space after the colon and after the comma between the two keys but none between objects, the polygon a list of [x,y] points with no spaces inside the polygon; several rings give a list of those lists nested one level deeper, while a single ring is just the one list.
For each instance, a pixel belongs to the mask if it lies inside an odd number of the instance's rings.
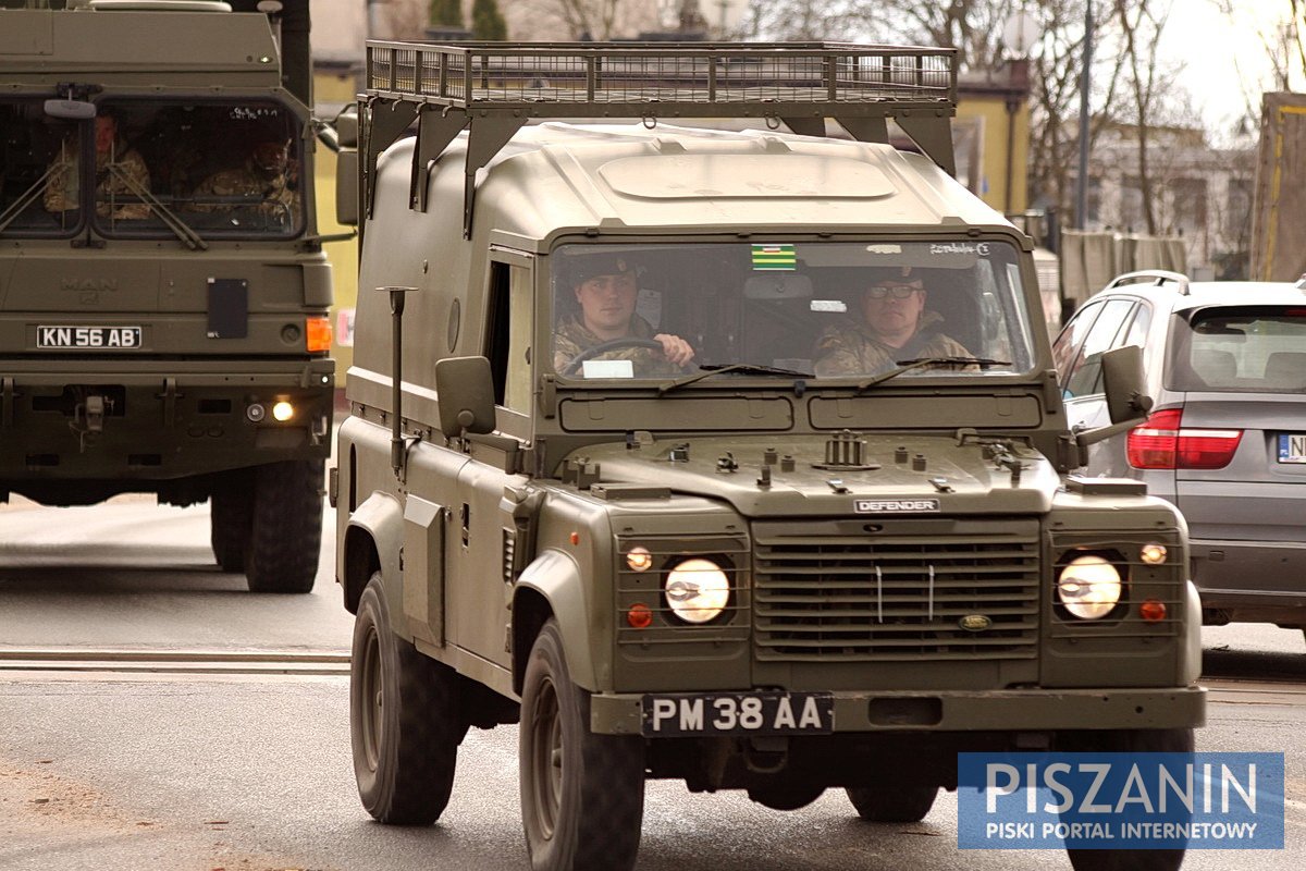
[{"label": "Defender's rear wheel on the left side, below the side box", "polygon": [[457,679],[390,631],[374,575],[354,622],[349,733],[358,797],[381,823],[430,825],[448,806],[466,733]]}]

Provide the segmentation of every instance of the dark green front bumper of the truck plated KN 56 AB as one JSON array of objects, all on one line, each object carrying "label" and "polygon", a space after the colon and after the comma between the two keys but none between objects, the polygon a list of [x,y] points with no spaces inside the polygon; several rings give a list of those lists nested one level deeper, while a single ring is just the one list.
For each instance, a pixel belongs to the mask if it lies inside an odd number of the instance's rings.
[{"label": "dark green front bumper of the truck plated KN 56 AB", "polygon": [[[168,481],[325,458],[333,388],[328,358],[4,360],[0,483]],[[291,419],[273,420],[278,400]],[[251,415],[256,404],[263,415]]]}]

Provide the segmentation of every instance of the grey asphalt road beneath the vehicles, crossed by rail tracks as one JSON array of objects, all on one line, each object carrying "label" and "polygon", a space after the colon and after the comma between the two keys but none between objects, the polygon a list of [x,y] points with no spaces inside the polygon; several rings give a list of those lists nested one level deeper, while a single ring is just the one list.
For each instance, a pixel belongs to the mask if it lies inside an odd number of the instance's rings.
[{"label": "grey asphalt road beneath the vehicles, crossed by rail tracks", "polygon": [[[255,597],[213,565],[206,508],[0,507],[0,656],[340,654],[351,623],[329,555],[328,529],[312,594]],[[1218,688],[1199,750],[1286,753],[1288,849],[1190,851],[1185,868],[1306,867],[1306,644],[1269,627],[1208,629],[1205,641]],[[358,803],[343,676],[4,669],[0,868],[522,868],[516,768],[515,729],[473,730],[441,821],[387,828]],[[643,838],[641,871],[1070,867],[1059,850],[960,853],[953,795],[923,823],[871,825],[835,790],[777,812],[654,782]]]}]

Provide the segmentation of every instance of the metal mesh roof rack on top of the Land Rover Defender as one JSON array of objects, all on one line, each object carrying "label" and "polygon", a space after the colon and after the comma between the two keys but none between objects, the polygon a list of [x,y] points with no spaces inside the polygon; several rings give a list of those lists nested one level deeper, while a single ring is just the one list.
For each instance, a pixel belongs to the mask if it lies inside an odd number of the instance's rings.
[{"label": "metal mesh roof rack on top of the Land Rover Defender", "polygon": [[464,235],[475,172],[535,118],[757,118],[824,136],[835,119],[863,142],[888,142],[893,118],[956,172],[956,50],[850,43],[367,42],[364,196],[377,155],[415,120],[410,206],[426,210],[431,162],[470,128]]}]

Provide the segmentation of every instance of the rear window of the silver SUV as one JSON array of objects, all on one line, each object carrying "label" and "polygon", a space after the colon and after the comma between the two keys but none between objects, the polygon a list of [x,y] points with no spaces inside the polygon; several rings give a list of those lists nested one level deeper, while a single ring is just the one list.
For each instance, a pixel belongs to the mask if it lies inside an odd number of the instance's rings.
[{"label": "rear window of the silver SUV", "polygon": [[1181,315],[1166,387],[1221,393],[1306,389],[1306,307],[1217,307]]}]

